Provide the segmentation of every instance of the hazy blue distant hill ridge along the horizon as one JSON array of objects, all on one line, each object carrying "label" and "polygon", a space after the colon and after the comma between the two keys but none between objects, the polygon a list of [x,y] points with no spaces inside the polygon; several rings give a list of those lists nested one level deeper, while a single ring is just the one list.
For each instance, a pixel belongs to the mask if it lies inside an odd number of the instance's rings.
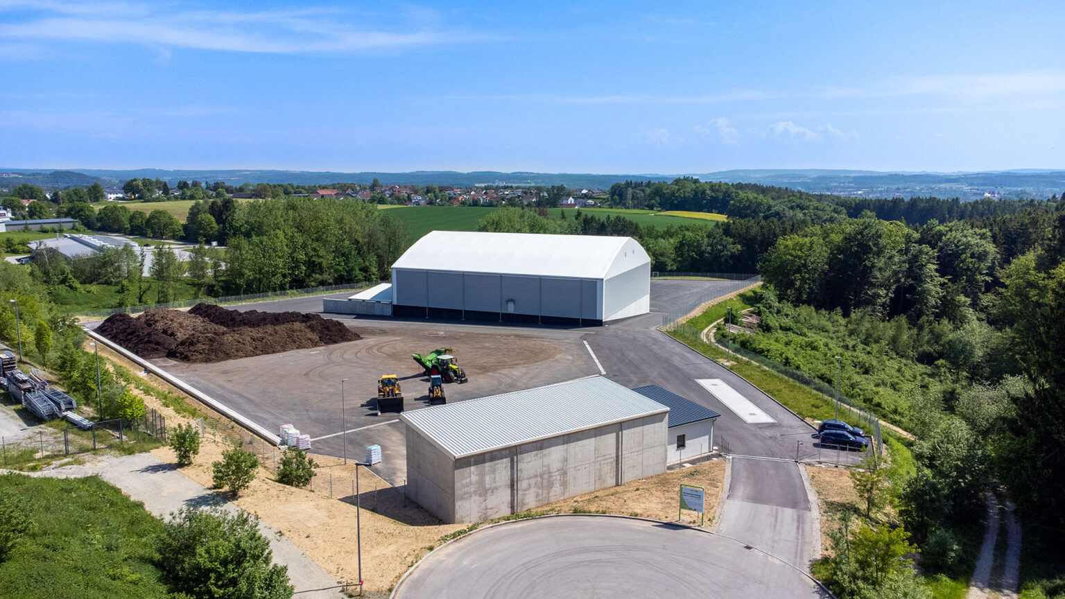
[{"label": "hazy blue distant hill ridge along the horizon", "polygon": [[492,184],[557,185],[569,188],[609,189],[626,180],[670,181],[677,177],[692,176],[704,181],[730,183],[760,183],[791,188],[809,193],[831,193],[872,197],[913,197],[935,195],[973,199],[993,197],[1049,197],[1065,192],[1065,169],[1014,169],[997,172],[924,173],[878,172],[820,168],[758,168],[732,169],[689,174],[632,174],[597,175],[588,173],[531,173],[499,171],[411,171],[408,173],[333,171],[276,171],[276,169],[161,169],[138,168],[109,171],[78,168],[55,171],[48,168],[0,168],[0,187],[13,188],[32,183],[44,188],[70,188],[99,182],[115,187],[131,178],[162,179],[175,185],[179,180],[225,181],[231,185],[242,183],[293,183],[300,185],[334,182],[371,183],[378,179],[382,184],[473,187]]}]

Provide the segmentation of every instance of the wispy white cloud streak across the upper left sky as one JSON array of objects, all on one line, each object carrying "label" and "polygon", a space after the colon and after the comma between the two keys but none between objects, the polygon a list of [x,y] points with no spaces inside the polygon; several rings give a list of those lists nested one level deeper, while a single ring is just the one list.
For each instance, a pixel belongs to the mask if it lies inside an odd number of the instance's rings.
[{"label": "wispy white cloud streak across the upper left sky", "polygon": [[[231,52],[328,53],[453,43],[466,36],[439,25],[373,29],[339,10],[181,11],[167,6],[0,0],[0,38],[143,44]],[[12,15],[17,14],[17,20]],[[424,12],[415,13],[424,21]],[[403,21],[402,18],[393,20]],[[408,27],[402,27],[408,25]],[[480,38],[484,38],[482,36]]]}]

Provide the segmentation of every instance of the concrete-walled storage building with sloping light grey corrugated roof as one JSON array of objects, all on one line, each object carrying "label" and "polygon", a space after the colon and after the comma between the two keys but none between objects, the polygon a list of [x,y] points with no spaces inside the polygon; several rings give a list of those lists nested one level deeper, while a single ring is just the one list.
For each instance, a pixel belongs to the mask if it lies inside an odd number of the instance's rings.
[{"label": "concrete-walled storage building with sloping light grey corrugated roof", "polygon": [[668,410],[592,377],[405,411],[407,496],[475,522],[658,474]]}]

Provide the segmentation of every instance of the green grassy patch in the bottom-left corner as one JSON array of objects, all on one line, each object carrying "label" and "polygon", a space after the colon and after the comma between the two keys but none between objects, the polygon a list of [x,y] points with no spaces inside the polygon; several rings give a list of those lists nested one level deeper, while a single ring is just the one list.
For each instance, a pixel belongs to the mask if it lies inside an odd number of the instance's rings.
[{"label": "green grassy patch in the bottom-left corner", "polygon": [[166,597],[153,541],[163,524],[97,476],[0,476],[30,503],[35,530],[0,564],[0,597]]}]

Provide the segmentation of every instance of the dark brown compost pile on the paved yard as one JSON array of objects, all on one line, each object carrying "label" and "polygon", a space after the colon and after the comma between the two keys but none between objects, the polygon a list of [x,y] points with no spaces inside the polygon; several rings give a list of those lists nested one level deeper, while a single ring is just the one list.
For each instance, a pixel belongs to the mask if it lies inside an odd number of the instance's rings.
[{"label": "dark brown compost pile on the paved yard", "polygon": [[96,330],[143,358],[186,362],[217,362],[361,339],[343,323],[317,314],[241,312],[211,304],[197,304],[187,312],[148,310],[135,319],[114,314]]}]

